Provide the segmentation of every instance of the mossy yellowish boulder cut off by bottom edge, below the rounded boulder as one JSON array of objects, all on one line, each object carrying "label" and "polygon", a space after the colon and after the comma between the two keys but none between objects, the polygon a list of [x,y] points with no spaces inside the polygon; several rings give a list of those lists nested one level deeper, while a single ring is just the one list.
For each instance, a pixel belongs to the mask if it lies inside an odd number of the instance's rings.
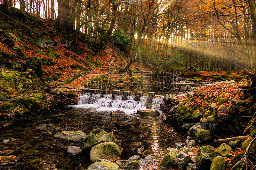
[{"label": "mossy yellowish boulder cut off by bottom edge, below the rounded boulder", "polygon": [[87,167],[87,170],[119,170],[119,166],[113,162],[95,162]]}]

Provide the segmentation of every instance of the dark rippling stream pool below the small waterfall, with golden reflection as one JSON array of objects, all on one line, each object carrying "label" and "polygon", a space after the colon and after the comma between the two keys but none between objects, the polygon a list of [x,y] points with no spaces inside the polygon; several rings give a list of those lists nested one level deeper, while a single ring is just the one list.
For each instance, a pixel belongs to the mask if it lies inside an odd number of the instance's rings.
[{"label": "dark rippling stream pool below the small waterfall, with golden reflection", "polygon": [[[145,149],[153,151],[161,151],[179,141],[184,142],[182,136],[185,133],[173,122],[163,121],[160,116],[148,120],[130,111],[125,117],[120,118],[111,117],[110,111],[88,106],[66,106],[38,113],[40,118],[32,114],[12,118],[12,125],[0,131],[0,150],[16,150],[11,155],[18,156],[19,160],[0,166],[0,169],[85,169],[91,164],[88,154],[68,155],[68,145],[83,145],[54,138],[57,133],[54,131],[55,127],[62,127],[68,131],[82,129],[86,134],[92,129],[104,129],[120,141],[120,148],[124,147],[123,159],[131,156],[129,145],[134,142],[142,142]],[[139,136],[139,129],[143,126],[150,127],[150,137]],[[45,127],[46,130],[39,130],[39,127]],[[3,143],[2,139],[7,137],[15,140]]]}]

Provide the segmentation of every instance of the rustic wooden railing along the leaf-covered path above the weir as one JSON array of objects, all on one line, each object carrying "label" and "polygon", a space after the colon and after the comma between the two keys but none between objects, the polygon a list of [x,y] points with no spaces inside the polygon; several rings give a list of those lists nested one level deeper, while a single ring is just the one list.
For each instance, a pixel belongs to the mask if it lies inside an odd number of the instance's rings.
[{"label": "rustic wooden railing along the leaf-covered path above the weir", "polygon": [[[115,66],[123,66],[125,67],[127,64],[129,63],[128,60],[112,60],[109,64],[108,64],[108,71],[112,71],[114,69]],[[132,62],[131,66],[133,67],[138,67],[140,68],[145,68],[148,70],[155,70],[158,68],[158,65],[154,65],[154,64],[144,64],[144,63],[140,63],[140,62]],[[160,70],[162,69],[163,65],[160,66]]]}]

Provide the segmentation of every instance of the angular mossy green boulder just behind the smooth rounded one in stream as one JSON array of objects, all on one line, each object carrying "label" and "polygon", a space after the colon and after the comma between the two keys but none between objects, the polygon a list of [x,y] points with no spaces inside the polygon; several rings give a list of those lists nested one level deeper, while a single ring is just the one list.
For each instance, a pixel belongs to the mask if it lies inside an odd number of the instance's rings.
[{"label": "angular mossy green boulder just behind the smooth rounded one in stream", "polygon": [[88,133],[87,137],[84,138],[84,149],[91,149],[93,145],[103,141],[116,143],[116,139],[114,139],[113,135],[109,135],[103,129],[93,129]]}]

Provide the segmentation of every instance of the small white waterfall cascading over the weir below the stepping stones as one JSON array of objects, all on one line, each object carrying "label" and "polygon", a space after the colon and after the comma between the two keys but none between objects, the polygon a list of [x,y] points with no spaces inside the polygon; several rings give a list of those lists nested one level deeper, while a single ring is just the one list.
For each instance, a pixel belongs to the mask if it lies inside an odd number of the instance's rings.
[{"label": "small white waterfall cascading over the weir below the stepping stones", "polygon": [[92,104],[98,107],[122,108],[130,110],[149,109],[160,110],[162,99],[150,96],[128,96],[84,93],[78,98],[78,105]]}]

